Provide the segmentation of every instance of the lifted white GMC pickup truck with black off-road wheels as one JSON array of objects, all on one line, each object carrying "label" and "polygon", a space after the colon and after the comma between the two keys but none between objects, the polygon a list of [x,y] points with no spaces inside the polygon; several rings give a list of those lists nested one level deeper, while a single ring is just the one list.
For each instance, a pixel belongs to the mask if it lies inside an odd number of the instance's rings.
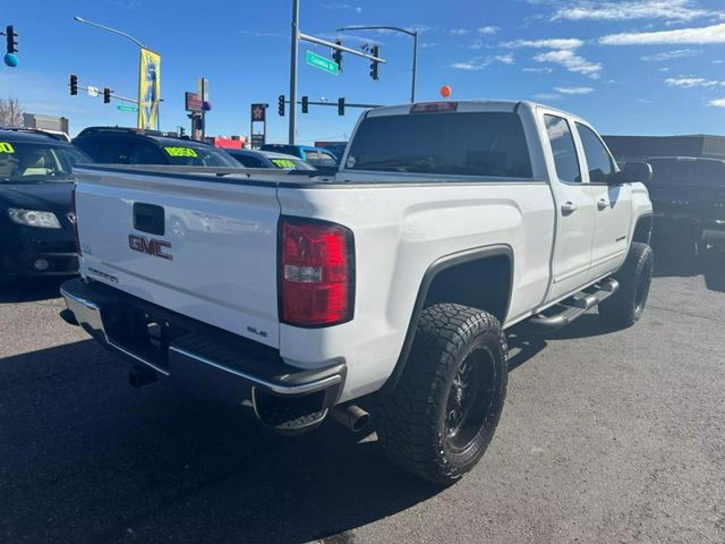
[{"label": "lifted white GMC pickup truck with black off-road wheels", "polygon": [[185,381],[279,432],[357,429],[371,399],[389,458],[450,484],[492,439],[508,327],[642,315],[650,175],[576,116],[496,101],[365,112],[330,176],[85,165],[62,316],[136,386]]}]

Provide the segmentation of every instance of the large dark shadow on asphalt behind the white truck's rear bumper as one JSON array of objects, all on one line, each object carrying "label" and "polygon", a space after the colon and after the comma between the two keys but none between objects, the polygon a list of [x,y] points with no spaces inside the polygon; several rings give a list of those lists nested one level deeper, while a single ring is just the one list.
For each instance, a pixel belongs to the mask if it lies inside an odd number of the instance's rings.
[{"label": "large dark shadow on asphalt behind the white truck's rear bumper", "polygon": [[332,422],[278,437],[127,372],[91,340],[0,359],[4,541],[307,542],[441,491]]}]

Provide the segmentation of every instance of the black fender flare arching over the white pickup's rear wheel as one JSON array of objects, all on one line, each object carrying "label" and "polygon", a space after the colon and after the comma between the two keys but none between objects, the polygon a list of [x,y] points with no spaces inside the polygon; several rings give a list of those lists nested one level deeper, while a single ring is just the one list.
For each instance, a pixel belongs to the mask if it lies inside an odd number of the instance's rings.
[{"label": "black fender flare arching over the white pickup's rear wheel", "polygon": [[392,374],[390,374],[387,381],[383,384],[383,387],[381,387],[382,393],[388,393],[394,390],[395,386],[398,383],[398,380],[400,379],[400,376],[402,376],[403,371],[405,370],[405,363],[407,362],[408,355],[410,355],[410,349],[413,347],[415,331],[418,328],[418,318],[420,318],[421,312],[423,311],[423,304],[426,302],[426,297],[428,296],[428,289],[430,289],[431,284],[433,284],[436,276],[447,268],[452,268],[456,265],[471,263],[474,260],[485,260],[491,257],[501,256],[508,258],[510,276],[506,310],[504,319],[501,323],[503,324],[503,321],[505,321],[505,317],[508,316],[510,310],[511,294],[513,292],[514,259],[512,247],[510,247],[508,244],[494,244],[489,246],[474,247],[471,250],[464,250],[461,252],[451,253],[450,255],[444,255],[443,257],[439,257],[439,259],[434,260],[434,262],[428,266],[426,272],[423,274],[421,285],[420,287],[418,287],[418,296],[415,297],[413,313],[410,316],[410,321],[408,321],[407,331],[405,332],[405,339],[403,340],[403,346],[400,350],[400,355],[398,356],[397,363],[395,363],[395,368],[393,368]]}]

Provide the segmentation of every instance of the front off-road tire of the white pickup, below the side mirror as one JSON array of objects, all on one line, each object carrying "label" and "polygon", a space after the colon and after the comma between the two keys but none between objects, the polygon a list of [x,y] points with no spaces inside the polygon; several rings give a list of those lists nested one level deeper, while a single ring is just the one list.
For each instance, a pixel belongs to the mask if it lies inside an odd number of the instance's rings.
[{"label": "front off-road tire of the white pickup, below the side mirror", "polygon": [[618,291],[599,305],[599,315],[615,329],[634,325],[642,317],[650,294],[655,254],[642,242],[632,242],[624,265],[614,274]]}]

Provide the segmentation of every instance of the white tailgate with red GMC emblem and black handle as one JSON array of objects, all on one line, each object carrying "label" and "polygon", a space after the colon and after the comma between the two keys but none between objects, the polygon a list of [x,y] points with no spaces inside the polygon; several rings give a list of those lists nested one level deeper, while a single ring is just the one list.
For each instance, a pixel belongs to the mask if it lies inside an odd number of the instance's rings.
[{"label": "white tailgate with red GMC emblem and black handle", "polygon": [[74,174],[84,276],[278,347],[273,181]]}]

